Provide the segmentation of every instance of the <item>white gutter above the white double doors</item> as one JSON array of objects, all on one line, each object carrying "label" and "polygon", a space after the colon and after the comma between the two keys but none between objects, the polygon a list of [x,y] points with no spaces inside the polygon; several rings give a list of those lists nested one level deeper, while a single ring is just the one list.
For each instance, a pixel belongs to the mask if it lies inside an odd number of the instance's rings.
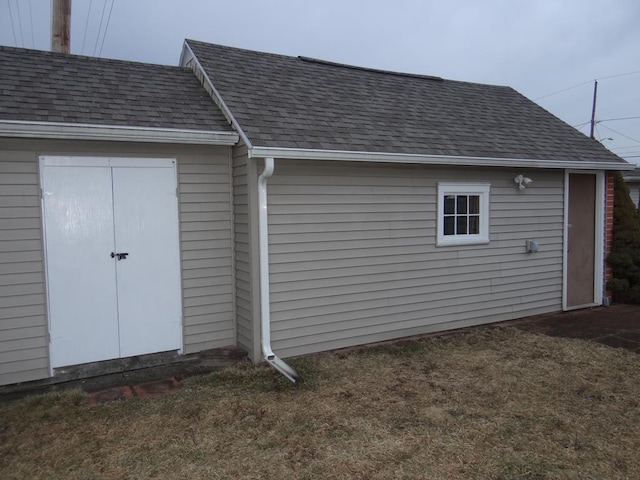
[{"label": "white gutter above the white double doors", "polygon": [[19,120],[0,120],[0,137],[225,146],[235,145],[239,138],[235,132]]}]

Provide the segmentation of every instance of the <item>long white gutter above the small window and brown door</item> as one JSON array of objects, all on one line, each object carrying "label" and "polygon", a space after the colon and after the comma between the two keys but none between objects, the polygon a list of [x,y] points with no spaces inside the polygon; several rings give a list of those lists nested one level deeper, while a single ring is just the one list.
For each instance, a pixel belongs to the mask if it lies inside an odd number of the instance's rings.
[{"label": "long white gutter above the small window and brown door", "polygon": [[522,158],[462,157],[409,153],[350,152],[304,148],[251,147],[249,158],[278,157],[292,160],[338,160],[347,162],[420,163],[471,167],[562,168],[572,170],[634,170],[636,165],[613,162],[530,160]]}]

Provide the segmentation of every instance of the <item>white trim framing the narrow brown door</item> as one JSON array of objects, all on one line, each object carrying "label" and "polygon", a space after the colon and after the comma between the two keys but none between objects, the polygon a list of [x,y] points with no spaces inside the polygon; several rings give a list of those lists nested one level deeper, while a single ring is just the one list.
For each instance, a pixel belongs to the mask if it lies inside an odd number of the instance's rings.
[{"label": "white trim framing the narrow brown door", "polygon": [[[594,282],[593,303],[585,305],[567,306],[567,260],[569,255],[569,175],[588,174],[596,176],[595,198],[595,252],[594,252]],[[562,248],[562,310],[577,310],[579,308],[602,305],[604,288],[604,224],[605,224],[605,172],[602,170],[565,170],[564,172],[564,220],[563,220],[563,248]]]}]

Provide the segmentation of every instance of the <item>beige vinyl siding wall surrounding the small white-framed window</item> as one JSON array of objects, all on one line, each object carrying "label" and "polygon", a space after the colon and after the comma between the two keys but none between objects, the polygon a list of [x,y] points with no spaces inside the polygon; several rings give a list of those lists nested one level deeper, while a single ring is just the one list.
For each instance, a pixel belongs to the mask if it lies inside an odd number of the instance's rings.
[{"label": "beige vinyl siding wall surrounding the small white-framed window", "polygon": [[[521,192],[513,177],[534,183]],[[437,182],[491,184],[490,243],[436,247]],[[271,320],[283,356],[561,309],[563,173],[276,161]],[[525,252],[536,240],[540,251]]]}]

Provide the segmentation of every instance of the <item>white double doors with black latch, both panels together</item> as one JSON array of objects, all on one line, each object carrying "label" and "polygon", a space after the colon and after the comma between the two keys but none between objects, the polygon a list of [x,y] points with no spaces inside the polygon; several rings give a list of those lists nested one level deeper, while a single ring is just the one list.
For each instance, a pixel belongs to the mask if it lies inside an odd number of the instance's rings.
[{"label": "white double doors with black latch, both panels together", "polygon": [[180,350],[175,160],[41,157],[40,172],[51,367]]}]

